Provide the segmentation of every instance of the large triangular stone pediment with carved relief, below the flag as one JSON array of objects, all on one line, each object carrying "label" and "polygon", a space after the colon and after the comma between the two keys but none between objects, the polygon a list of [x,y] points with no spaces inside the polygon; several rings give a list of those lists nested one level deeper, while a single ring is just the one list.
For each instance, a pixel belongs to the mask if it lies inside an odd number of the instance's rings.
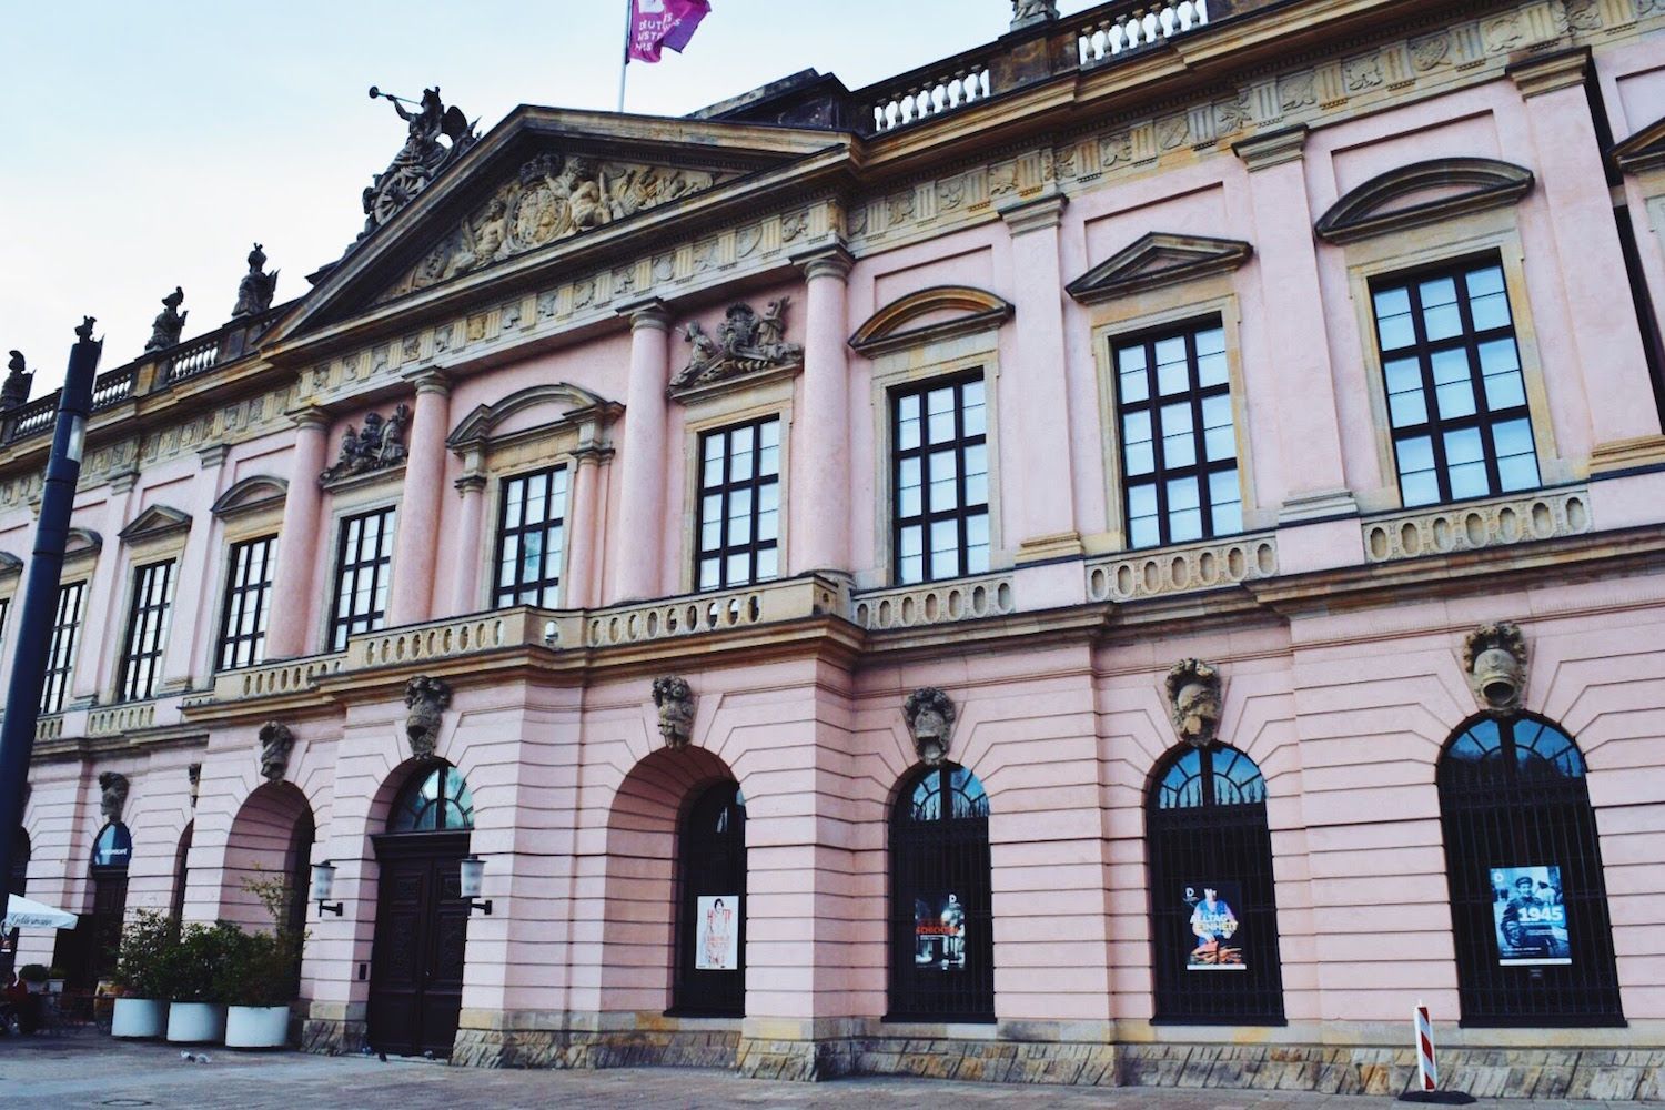
[{"label": "large triangular stone pediment with carved relief, below the flag", "polygon": [[313,291],[266,341],[405,298],[426,303],[416,298],[440,286],[450,293],[598,255],[634,260],[643,236],[668,233],[683,215],[746,211],[759,188],[799,193],[801,163],[841,158],[849,143],[846,135],[726,120],[516,108],[311,275]]}]

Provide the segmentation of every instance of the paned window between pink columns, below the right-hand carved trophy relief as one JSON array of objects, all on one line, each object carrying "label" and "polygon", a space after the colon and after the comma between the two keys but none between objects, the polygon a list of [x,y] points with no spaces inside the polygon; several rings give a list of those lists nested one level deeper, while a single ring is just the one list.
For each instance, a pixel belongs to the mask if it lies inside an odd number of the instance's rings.
[{"label": "paned window between pink columns, below the right-hand carved trophy relief", "polygon": [[779,572],[781,418],[699,438],[699,589],[748,586]]}]

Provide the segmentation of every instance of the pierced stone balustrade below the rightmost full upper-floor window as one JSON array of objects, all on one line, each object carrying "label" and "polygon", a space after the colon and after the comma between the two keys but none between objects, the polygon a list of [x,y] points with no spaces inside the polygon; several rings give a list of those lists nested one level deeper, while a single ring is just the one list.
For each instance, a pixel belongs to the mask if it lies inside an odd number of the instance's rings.
[{"label": "pierced stone balustrade below the rightmost full upper-floor window", "polygon": [[1367,562],[1507,548],[1528,539],[1582,536],[1593,528],[1585,486],[1399,511],[1364,521]]}]

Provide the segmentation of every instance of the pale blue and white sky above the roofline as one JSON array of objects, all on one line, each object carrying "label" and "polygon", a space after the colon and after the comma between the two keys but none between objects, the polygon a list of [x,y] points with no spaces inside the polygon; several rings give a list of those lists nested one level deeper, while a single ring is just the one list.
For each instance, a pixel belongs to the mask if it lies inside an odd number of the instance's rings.
[{"label": "pale blue and white sky above the roofline", "polygon": [[[857,88],[1009,20],[1007,0],[713,0],[686,53],[631,65],[628,110],[684,115],[808,67]],[[28,356],[40,396],[90,313],[112,369],[175,285],[186,334],[208,331],[255,240],[296,296],[403,141],[370,85],[438,83],[481,131],[518,103],[611,108],[623,33],[624,0],[0,0],[0,351]]]}]

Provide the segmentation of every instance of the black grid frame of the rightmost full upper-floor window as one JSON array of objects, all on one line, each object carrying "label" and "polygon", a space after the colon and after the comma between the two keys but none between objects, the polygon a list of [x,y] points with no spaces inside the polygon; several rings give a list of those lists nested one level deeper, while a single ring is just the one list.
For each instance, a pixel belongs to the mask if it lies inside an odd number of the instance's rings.
[{"label": "black grid frame of the rightmost full upper-floor window", "polygon": [[[1495,268],[1502,278],[1503,288],[1503,305],[1508,310],[1507,326],[1487,328],[1477,331],[1474,325],[1474,296],[1469,290],[1469,276]],[[1427,338],[1427,321],[1424,316],[1422,305],[1422,285],[1429,281],[1437,281],[1440,278],[1450,278],[1457,286],[1457,311],[1462,323],[1462,330],[1455,336],[1447,336],[1444,339]],[[1410,346],[1387,348],[1382,339],[1382,316],[1377,310],[1377,296],[1387,290],[1404,288],[1409,296],[1410,325],[1414,330],[1414,343]],[[1384,273],[1370,278],[1370,325],[1375,336],[1375,353],[1380,361],[1380,383],[1382,398],[1385,411],[1385,424],[1389,434],[1389,448],[1394,458],[1394,479],[1399,486],[1400,504],[1404,508],[1427,508],[1437,504],[1454,504],[1460,501],[1479,501],[1484,498],[1497,498],[1508,493],[1523,493],[1528,489],[1540,489],[1543,486],[1543,464],[1538,458],[1538,429],[1532,424],[1532,398],[1527,393],[1525,379],[1525,361],[1520,356],[1520,334],[1517,330],[1515,306],[1508,286],[1508,270],[1503,266],[1503,258],[1498,251],[1482,251],[1477,255],[1464,255],[1460,258],[1447,258],[1425,266],[1414,266],[1410,270],[1395,270],[1392,273]],[[1485,391],[1485,373],[1480,363],[1480,346],[1487,343],[1495,343],[1498,339],[1510,339],[1515,344],[1515,374],[1520,376],[1520,404],[1497,409],[1490,408],[1490,399]],[[1444,418],[1439,414],[1439,383],[1434,378],[1434,356],[1445,351],[1462,348],[1467,354],[1469,363],[1469,389],[1474,396],[1474,414],[1470,416],[1452,416]],[[1392,384],[1387,378],[1389,363],[1397,363],[1405,358],[1417,359],[1417,371],[1420,376],[1422,403],[1424,403],[1424,419],[1417,424],[1405,424],[1404,428],[1394,426],[1394,396]],[[1527,434],[1532,438],[1532,463],[1537,469],[1537,481],[1530,486],[1518,486],[1512,489],[1503,489],[1502,476],[1498,471],[1498,451],[1497,451],[1497,428],[1500,424],[1508,424],[1515,421],[1523,421],[1527,426]],[[1480,433],[1480,449],[1482,461],[1485,464],[1485,493],[1455,496],[1452,491],[1450,463],[1447,458],[1445,436],[1449,433],[1459,433],[1465,429],[1479,429]],[[1437,486],[1439,498],[1435,501],[1410,501],[1405,496],[1405,471],[1400,464],[1400,443],[1412,439],[1429,439],[1429,451],[1434,458],[1434,479]],[[1510,456],[1513,458],[1513,456]],[[1414,471],[1420,473],[1420,471]]]}]

